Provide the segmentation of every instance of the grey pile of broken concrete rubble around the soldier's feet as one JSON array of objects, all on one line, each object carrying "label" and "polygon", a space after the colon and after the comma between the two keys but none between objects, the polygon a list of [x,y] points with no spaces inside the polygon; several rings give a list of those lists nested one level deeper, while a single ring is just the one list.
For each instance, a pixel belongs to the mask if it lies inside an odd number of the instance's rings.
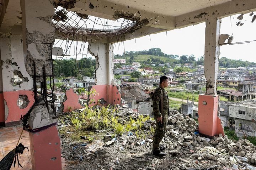
[{"label": "grey pile of broken concrete rubble around the soldier's feet", "polygon": [[[137,119],[140,114],[133,112],[127,105],[118,106],[118,121],[125,122]],[[72,169],[231,169],[233,164],[256,164],[256,153],[248,140],[230,140],[219,134],[212,139],[200,136],[198,124],[188,116],[184,117],[178,111],[171,111],[166,126],[165,140],[160,145],[166,147],[163,158],[152,154],[153,133],[155,120],[146,120],[141,129],[124,132],[122,136],[114,134],[113,130],[96,131],[102,135],[86,146],[62,138],[62,154],[70,163],[77,160],[78,164],[69,165]],[[147,116],[146,114],[143,115]],[[105,132],[105,133],[104,133]],[[138,135],[137,134],[140,134]],[[135,134],[136,133],[136,134]],[[102,143],[102,145],[100,144]],[[94,145],[94,149],[91,149]],[[77,146],[76,148],[74,148]],[[249,162],[231,158],[245,157]],[[83,160],[81,160],[81,157]],[[80,162],[78,162],[80,160]],[[223,168],[224,167],[224,168]],[[241,166],[240,168],[246,166]],[[248,169],[248,168],[247,168]]]}]

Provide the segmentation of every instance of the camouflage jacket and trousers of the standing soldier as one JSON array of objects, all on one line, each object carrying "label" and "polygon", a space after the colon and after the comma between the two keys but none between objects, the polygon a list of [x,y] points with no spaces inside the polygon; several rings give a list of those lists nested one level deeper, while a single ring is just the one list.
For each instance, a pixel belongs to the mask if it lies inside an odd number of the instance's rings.
[{"label": "camouflage jacket and trousers of the standing soldier", "polygon": [[[161,90],[163,93],[163,115],[160,113],[161,109]],[[160,130],[159,123],[157,122],[157,118],[162,118],[162,125],[164,130],[166,130],[167,125],[167,117],[169,113],[169,100],[167,96],[167,92],[159,86],[155,92],[154,92],[154,100],[153,100],[153,111],[154,111],[154,119],[156,120],[156,130],[154,134],[154,140],[153,140],[153,150],[158,151],[159,150],[159,143],[164,137],[162,130]]]}]

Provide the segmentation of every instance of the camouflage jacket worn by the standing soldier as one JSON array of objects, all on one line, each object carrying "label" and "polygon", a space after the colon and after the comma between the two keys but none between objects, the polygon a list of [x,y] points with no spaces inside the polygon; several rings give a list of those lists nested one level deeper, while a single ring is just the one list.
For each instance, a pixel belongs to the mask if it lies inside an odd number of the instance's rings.
[{"label": "camouflage jacket worn by the standing soldier", "polygon": [[[161,90],[163,93],[163,114],[161,115],[160,113],[160,108],[161,108]],[[168,111],[169,111],[169,99],[167,96],[167,92],[159,86],[155,92],[154,92],[154,100],[153,100],[153,111],[154,111],[154,117],[159,118],[161,116],[167,117],[168,116]]]}]

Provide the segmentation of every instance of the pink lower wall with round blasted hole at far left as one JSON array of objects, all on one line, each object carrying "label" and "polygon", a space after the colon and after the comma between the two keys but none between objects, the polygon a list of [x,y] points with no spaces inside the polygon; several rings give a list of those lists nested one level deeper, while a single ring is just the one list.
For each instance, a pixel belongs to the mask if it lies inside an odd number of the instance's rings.
[{"label": "pink lower wall with round blasted hole at far left", "polygon": [[[21,115],[25,115],[34,103],[33,92],[30,90],[4,91],[3,94],[4,100],[9,108],[8,117],[5,118],[6,123],[11,121],[19,121]],[[30,101],[28,106],[24,109],[20,109],[20,107],[17,105],[19,95],[27,95],[28,100]]]}]

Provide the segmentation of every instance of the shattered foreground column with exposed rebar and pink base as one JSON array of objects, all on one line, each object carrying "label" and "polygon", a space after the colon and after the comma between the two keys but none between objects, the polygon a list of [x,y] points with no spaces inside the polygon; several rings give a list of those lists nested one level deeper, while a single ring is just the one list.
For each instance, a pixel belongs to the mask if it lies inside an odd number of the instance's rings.
[{"label": "shattered foreground column with exposed rebar and pink base", "polygon": [[[50,59],[49,43],[53,44],[55,40],[55,28],[52,25],[53,1],[21,0],[21,10],[26,70],[33,78],[34,74],[43,75],[44,66],[46,75],[52,75],[51,62],[47,60]],[[36,82],[41,81],[42,78],[36,78]],[[52,125],[57,121],[52,119],[53,115],[53,109],[50,107],[49,110],[43,105],[34,107],[28,120],[30,129]],[[60,138],[55,125],[38,133],[30,133],[30,151],[32,170],[61,170]]]}]

